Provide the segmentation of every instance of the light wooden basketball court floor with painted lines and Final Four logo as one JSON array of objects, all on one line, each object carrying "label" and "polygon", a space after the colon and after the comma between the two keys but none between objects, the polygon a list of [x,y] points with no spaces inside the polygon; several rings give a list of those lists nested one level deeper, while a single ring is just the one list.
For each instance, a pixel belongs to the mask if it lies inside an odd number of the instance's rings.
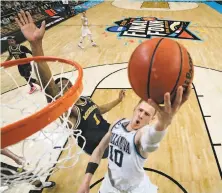
[{"label": "light wooden basketball court floor with painted lines and Final Four logo", "polygon": [[[188,49],[195,65],[190,99],[175,117],[158,151],[149,156],[144,167],[152,183],[159,187],[159,193],[222,193],[222,15],[204,3],[103,2],[87,11],[98,47],[91,47],[85,40],[84,50],[77,47],[81,33],[80,17],[72,17],[46,31],[43,41],[45,55],[81,64],[84,68],[82,95],[91,96],[97,104],[115,99],[120,89],[126,89],[124,101],[105,114],[109,122],[130,117],[139,100],[128,82],[127,62],[133,50],[149,38],[148,35],[152,38],[170,34],[166,36]],[[127,33],[121,33],[124,28],[121,28],[121,23],[131,22],[132,27],[136,25],[135,18],[156,22],[147,22],[151,27],[149,34],[144,35],[142,28],[135,26],[127,29]],[[173,30],[175,33],[170,33]],[[27,42],[24,45],[30,48]],[[8,53],[4,53],[1,59],[5,60],[7,56]],[[60,72],[56,64],[50,68],[55,76]],[[69,68],[65,71],[64,75],[68,77]],[[17,68],[11,68],[10,73],[19,85],[25,84]],[[2,71],[1,77],[2,100],[13,100],[17,97],[16,89]],[[27,91],[28,86],[23,86],[22,92]],[[40,94],[36,92],[27,97],[39,100]],[[10,149],[21,155],[18,145]],[[73,152],[77,150],[74,148]],[[40,146],[32,146],[33,155],[39,151]],[[59,159],[65,154],[62,153]],[[10,162],[5,157],[2,159]],[[55,181],[57,186],[43,190],[43,193],[77,192],[88,160],[89,156],[83,153],[74,167],[49,176],[48,180]],[[102,160],[90,192],[98,192],[106,172],[107,160]],[[26,193],[29,188],[21,186],[6,192]]]}]

